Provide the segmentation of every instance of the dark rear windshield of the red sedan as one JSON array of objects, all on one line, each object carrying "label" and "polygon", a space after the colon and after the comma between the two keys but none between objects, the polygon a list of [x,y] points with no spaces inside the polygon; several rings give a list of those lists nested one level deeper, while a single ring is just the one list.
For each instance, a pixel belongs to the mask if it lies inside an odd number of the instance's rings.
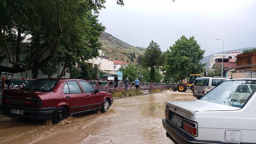
[{"label": "dark rear windshield of the red sedan", "polygon": [[28,83],[22,89],[24,90],[39,90],[39,91],[52,91],[58,81],[55,80],[34,80]]}]

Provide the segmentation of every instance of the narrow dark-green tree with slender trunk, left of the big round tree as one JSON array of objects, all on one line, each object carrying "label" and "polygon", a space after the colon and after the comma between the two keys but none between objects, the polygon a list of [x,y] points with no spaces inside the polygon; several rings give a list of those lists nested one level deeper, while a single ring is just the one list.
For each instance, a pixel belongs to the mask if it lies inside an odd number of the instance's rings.
[{"label": "narrow dark-green tree with slender trunk, left of the big round tree", "polygon": [[152,40],[142,56],[142,67],[150,68],[151,83],[156,80],[155,68],[159,68],[159,66],[162,66],[163,61],[164,57],[162,55],[159,45]]}]

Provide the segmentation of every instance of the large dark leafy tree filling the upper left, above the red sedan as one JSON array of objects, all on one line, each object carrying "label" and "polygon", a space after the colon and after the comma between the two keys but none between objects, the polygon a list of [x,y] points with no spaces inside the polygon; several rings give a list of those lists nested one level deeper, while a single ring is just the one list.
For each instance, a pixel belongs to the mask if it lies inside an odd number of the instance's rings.
[{"label": "large dark leafy tree filling the upper left, above the red sedan", "polygon": [[[95,31],[91,30],[102,30],[101,24],[96,25],[98,29],[95,28],[94,24],[98,23],[98,20],[97,15],[94,14],[104,8],[104,2],[104,0],[0,1],[0,35],[2,35],[0,47],[4,46],[4,53],[7,55],[9,63],[13,64],[13,67],[0,66],[0,70],[10,73],[26,70],[37,72],[40,67],[53,59],[60,46],[67,51],[75,49],[76,47],[68,48],[65,44],[65,41],[69,41],[68,38],[74,35],[83,36],[81,37],[83,44],[86,44],[87,47],[94,47],[95,43],[91,41],[97,40],[95,37],[98,33],[95,34]],[[17,35],[14,34],[16,30],[12,29],[13,27],[17,28]],[[87,29],[82,29],[81,33],[77,31],[70,33],[71,30],[78,30],[81,27]],[[84,31],[86,35],[83,35]],[[20,41],[23,32],[31,34],[33,37],[31,38],[29,56],[25,60],[20,60]],[[95,35],[95,37],[90,35]],[[73,42],[75,41],[73,40]],[[82,44],[81,41],[80,44]],[[11,59],[10,49],[16,51],[15,59]],[[93,54],[90,49],[88,52]]]}]

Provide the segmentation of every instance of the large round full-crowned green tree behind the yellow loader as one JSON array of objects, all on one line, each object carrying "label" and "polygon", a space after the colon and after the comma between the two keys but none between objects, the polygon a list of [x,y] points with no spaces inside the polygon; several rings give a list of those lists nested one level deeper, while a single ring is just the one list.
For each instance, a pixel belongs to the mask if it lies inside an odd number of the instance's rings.
[{"label": "large round full-crowned green tree behind the yellow loader", "polygon": [[200,62],[204,52],[194,36],[187,39],[182,35],[165,52],[166,61],[162,71],[166,71],[165,75],[169,75],[174,81],[182,81],[189,74],[200,74],[205,70],[205,64]]}]

